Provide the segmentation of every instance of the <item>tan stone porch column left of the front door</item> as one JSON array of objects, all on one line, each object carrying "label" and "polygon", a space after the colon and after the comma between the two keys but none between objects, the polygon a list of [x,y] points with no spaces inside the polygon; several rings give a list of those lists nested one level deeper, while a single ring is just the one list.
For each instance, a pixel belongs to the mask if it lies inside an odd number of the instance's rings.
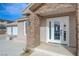
[{"label": "tan stone porch column left of the front door", "polygon": [[30,25],[27,27],[27,48],[34,48],[40,44],[40,19],[34,13],[29,16]]}]

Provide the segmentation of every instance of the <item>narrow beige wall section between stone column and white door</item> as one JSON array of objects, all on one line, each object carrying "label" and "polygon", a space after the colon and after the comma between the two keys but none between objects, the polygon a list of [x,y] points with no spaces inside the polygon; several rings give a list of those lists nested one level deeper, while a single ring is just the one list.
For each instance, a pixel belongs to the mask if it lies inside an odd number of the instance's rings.
[{"label": "narrow beige wall section between stone column and white door", "polygon": [[46,18],[40,19],[40,41],[46,42]]}]

